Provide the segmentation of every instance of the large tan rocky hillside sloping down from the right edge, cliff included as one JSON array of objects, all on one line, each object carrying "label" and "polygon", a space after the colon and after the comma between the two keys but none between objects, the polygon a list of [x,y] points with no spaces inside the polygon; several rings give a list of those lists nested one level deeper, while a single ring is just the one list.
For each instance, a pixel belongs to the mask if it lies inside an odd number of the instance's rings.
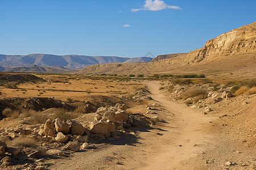
[{"label": "large tan rocky hillside sloping down from the right edge, cliff included", "polygon": [[[115,63],[94,65],[80,74],[183,74],[203,73],[208,76],[231,74],[255,78],[256,22],[233,29],[205,43],[203,48],[179,57],[150,63]],[[232,77],[232,76],[231,76]]]}]

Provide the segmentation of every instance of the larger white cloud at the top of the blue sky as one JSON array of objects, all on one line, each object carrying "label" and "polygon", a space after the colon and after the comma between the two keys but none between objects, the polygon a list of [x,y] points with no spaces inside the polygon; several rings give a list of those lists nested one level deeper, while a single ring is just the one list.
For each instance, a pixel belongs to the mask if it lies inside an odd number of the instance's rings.
[{"label": "larger white cloud at the top of the blue sky", "polygon": [[131,11],[132,12],[137,12],[141,10],[160,11],[164,9],[182,10],[182,8],[179,6],[167,5],[166,3],[164,3],[164,1],[161,1],[161,0],[155,0],[155,1],[146,0],[143,5],[143,8],[132,8]]}]

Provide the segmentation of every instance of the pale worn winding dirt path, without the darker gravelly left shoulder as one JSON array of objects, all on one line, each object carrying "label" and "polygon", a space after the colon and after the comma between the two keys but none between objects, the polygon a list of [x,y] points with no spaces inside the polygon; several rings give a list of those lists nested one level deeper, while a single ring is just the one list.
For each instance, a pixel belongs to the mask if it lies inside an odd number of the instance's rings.
[{"label": "pale worn winding dirt path, without the darker gravelly left shoulder", "polygon": [[[150,142],[150,148],[144,148],[148,153],[145,158],[145,166],[141,169],[197,169],[203,163],[200,160],[201,150],[210,143],[213,138],[203,132],[202,124],[209,122],[209,117],[196,112],[192,108],[185,107],[184,104],[166,99],[160,94],[158,83],[147,84],[151,97],[158,101],[167,110],[163,116],[167,120],[174,120],[174,124],[169,122],[162,129],[163,135]],[[170,114],[172,113],[172,114]],[[185,160],[192,159],[192,165],[186,165]],[[191,164],[191,162],[189,162]],[[189,166],[189,168],[188,168]]]}]

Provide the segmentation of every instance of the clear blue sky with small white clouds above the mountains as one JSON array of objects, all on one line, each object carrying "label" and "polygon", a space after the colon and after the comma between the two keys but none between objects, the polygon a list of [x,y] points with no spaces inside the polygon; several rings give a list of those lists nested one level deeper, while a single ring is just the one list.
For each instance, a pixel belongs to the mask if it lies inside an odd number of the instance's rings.
[{"label": "clear blue sky with small white clouds above the mountains", "polygon": [[190,52],[255,22],[255,7],[255,0],[0,0],[0,54]]}]

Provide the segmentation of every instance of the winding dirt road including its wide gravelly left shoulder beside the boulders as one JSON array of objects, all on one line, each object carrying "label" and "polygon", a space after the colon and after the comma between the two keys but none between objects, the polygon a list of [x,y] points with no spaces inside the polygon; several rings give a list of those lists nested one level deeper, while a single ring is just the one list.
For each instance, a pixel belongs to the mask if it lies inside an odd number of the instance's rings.
[{"label": "winding dirt road including its wide gravelly left shoulder beside the boulders", "polygon": [[[166,99],[160,94],[159,83],[147,86],[153,102],[161,105],[158,114],[166,123],[134,131],[135,139],[128,135],[96,145],[96,150],[76,152],[71,158],[57,160],[51,169],[205,169],[201,158],[213,137],[204,133],[202,124],[211,118]],[[121,164],[115,164],[116,160]]]}]

